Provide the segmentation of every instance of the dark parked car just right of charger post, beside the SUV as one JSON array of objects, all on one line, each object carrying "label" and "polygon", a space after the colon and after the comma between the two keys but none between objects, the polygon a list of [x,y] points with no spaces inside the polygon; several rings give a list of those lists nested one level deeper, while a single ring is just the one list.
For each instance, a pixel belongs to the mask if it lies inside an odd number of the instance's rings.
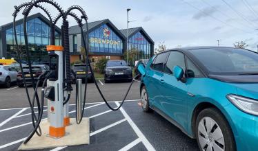
[{"label": "dark parked car just right of charger post, beside the SUV", "polygon": [[87,64],[75,64],[72,67],[72,71],[75,72],[76,79],[82,79],[85,81],[87,76],[88,81],[92,81],[92,73],[90,71],[90,67],[88,67],[88,71],[86,71]]}]

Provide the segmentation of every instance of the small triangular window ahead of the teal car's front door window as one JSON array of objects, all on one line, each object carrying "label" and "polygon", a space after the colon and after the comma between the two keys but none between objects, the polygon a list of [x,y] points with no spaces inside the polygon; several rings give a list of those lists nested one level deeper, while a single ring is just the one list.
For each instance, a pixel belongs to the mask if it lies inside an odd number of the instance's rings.
[{"label": "small triangular window ahead of the teal car's front door window", "polygon": [[189,58],[186,58],[186,64],[187,64],[186,74],[188,75],[188,78],[197,78],[197,77],[204,76]]}]

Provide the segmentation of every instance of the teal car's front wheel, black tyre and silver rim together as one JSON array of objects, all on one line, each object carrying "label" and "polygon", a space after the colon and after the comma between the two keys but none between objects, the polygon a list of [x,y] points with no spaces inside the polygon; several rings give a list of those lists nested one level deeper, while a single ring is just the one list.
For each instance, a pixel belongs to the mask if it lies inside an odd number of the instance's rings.
[{"label": "teal car's front wheel, black tyre and silver rim together", "polygon": [[217,108],[206,108],[199,113],[195,122],[195,136],[200,150],[236,150],[228,121]]}]

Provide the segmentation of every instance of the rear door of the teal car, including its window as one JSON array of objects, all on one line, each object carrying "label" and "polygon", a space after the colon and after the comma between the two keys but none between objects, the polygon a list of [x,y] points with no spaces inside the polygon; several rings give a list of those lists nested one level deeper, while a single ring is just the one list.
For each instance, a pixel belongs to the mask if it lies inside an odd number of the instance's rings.
[{"label": "rear door of the teal car, including its window", "polygon": [[161,79],[163,77],[163,65],[166,62],[168,54],[168,51],[158,54],[150,65],[150,69],[148,69],[146,72],[146,78],[148,81],[146,82],[146,87],[150,104],[156,106],[159,109],[161,109],[160,102],[163,100],[163,95],[161,95],[159,88],[161,86]]}]

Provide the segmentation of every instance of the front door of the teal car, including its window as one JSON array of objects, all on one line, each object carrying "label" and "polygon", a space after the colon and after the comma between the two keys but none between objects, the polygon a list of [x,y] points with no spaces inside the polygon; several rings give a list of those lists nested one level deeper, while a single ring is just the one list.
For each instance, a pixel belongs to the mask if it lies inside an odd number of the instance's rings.
[{"label": "front door of the teal car, including its window", "polygon": [[[164,73],[161,78],[162,86],[159,88],[163,100],[161,108],[163,111],[174,119],[177,124],[186,128],[187,126],[187,92],[188,83],[178,81],[173,75],[173,68],[179,66],[185,71],[185,55],[180,51],[171,51],[166,64],[164,65]],[[185,75],[184,75],[185,78]]]}]

